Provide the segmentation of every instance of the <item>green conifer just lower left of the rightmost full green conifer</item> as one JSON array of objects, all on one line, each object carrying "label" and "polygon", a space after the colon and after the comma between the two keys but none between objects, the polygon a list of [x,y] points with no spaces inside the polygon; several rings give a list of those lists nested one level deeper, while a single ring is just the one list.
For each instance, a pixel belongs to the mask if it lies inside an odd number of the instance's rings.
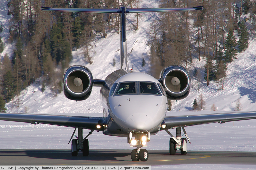
[{"label": "green conifer just lower left of the rightmost full green conifer", "polygon": [[233,30],[230,28],[228,31],[228,35],[226,36],[225,42],[225,53],[224,58],[225,62],[231,62],[233,59],[236,59],[237,49],[235,48],[237,45],[236,37],[234,36]]}]

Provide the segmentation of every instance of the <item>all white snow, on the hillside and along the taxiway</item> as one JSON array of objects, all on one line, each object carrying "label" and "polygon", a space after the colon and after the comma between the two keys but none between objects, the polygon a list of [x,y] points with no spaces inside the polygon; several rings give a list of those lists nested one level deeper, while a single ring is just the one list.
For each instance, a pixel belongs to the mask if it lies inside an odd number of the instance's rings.
[{"label": "all white snow, on the hillside and along the taxiway", "polygon": [[[5,26],[1,33],[4,42],[8,42],[8,20],[7,2],[0,0],[0,22]],[[157,7],[156,0],[141,1],[139,7]],[[141,72],[150,72],[150,47],[147,46],[147,40],[150,32],[150,22],[157,17],[157,13],[143,13],[139,18],[139,29],[135,32],[133,24],[136,23],[135,14],[127,15],[127,55],[128,63],[134,70]],[[120,68],[120,34],[109,31],[105,39],[96,37],[93,49],[90,51],[92,64],[85,61],[83,49],[73,51],[73,60],[70,65],[83,65],[89,68],[94,79],[105,79],[111,72]],[[219,90],[220,86],[216,82],[206,82],[200,79],[200,91],[198,80],[193,75],[194,67],[201,68],[205,61],[193,60],[193,67],[188,68],[192,78],[192,88],[190,95],[183,100],[172,101],[171,112],[167,116],[184,114],[206,114],[209,113],[214,103],[218,111],[233,111],[236,102],[242,104],[242,111],[255,111],[256,102],[256,40],[251,39],[249,47],[243,53],[237,55],[237,59],[228,65],[227,78],[224,90]],[[13,51],[13,44],[5,46],[1,53],[3,56],[7,53],[9,56]],[[146,65],[141,66],[144,57]],[[116,65],[113,67],[113,58]],[[204,69],[199,71],[204,74]],[[63,92],[57,96],[53,95],[50,88],[46,87],[41,92],[41,82],[38,81],[30,85],[19,95],[19,108],[16,108],[12,101],[6,104],[7,112],[12,113],[42,113],[58,115],[77,115],[77,116],[102,116],[103,107],[100,101],[100,88],[93,87],[91,96],[85,101],[72,101],[67,99]],[[202,93],[206,100],[206,109],[201,112],[189,112],[192,103],[198,95]],[[213,113],[213,112],[211,112]],[[256,124],[255,120],[227,122],[225,124],[206,124],[192,127],[186,127],[186,132],[191,140],[188,144],[188,150],[198,151],[256,151]],[[0,149],[69,149],[69,139],[73,133],[73,128],[66,128],[54,125],[31,125],[19,122],[0,121]],[[90,130],[84,130],[86,136]],[[175,135],[175,129],[170,132]],[[169,149],[170,136],[164,131],[151,137],[148,142],[148,150]],[[93,132],[89,136],[90,149],[131,149],[127,144],[127,139],[122,137],[105,136],[101,132]],[[159,142],[161,141],[161,142]],[[172,169],[255,169],[256,166],[248,165],[173,165]],[[152,166],[152,169],[170,169],[170,166]]]}]

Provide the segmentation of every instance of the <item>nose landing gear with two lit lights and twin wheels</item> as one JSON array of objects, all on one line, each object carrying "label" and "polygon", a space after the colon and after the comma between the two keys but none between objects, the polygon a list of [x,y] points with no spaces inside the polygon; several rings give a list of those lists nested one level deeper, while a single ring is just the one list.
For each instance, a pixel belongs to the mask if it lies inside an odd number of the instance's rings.
[{"label": "nose landing gear with two lit lights and twin wheels", "polygon": [[[135,136],[135,139],[132,139],[132,136]],[[145,133],[134,133],[130,132],[127,137],[127,142],[131,143],[130,147],[136,147],[132,150],[131,159],[132,161],[147,161],[148,160],[148,151],[142,149],[142,147],[147,147],[146,143],[150,141],[150,132]]]}]

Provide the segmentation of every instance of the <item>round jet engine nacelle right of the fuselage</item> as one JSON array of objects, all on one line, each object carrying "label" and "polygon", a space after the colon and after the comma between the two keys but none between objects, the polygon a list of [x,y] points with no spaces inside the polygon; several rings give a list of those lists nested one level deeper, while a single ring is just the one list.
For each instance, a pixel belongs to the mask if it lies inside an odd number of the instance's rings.
[{"label": "round jet engine nacelle right of the fuselage", "polygon": [[169,100],[184,99],[188,96],[191,80],[188,71],[178,65],[167,66],[160,73],[162,83]]}]

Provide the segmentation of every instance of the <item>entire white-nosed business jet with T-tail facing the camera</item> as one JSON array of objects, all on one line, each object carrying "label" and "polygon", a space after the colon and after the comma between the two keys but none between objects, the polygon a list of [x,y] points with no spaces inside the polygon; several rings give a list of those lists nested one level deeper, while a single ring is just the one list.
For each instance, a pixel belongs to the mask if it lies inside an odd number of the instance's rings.
[{"label": "entire white-nosed business jet with T-tail facing the camera", "polygon": [[[74,127],[73,138],[78,129],[77,139],[72,139],[71,154],[77,156],[82,151],[89,155],[88,136],[94,130],[102,131],[105,135],[127,137],[127,143],[135,149],[131,152],[132,161],[147,161],[147,146],[151,135],[165,130],[170,136],[170,154],[187,153],[188,135],[184,129],[207,123],[225,123],[256,119],[256,112],[234,112],[222,114],[190,115],[166,117],[167,100],[179,100],[188,96],[190,91],[190,76],[188,71],[178,65],[165,67],[155,79],[146,73],[134,71],[127,67],[126,55],[126,26],[125,17],[128,13],[163,12],[202,10],[203,7],[193,8],[146,8],[127,9],[77,9],[42,7],[46,11],[70,12],[101,12],[117,13],[121,18],[121,68],[106,77],[105,80],[93,79],[91,71],[84,66],[71,66],[63,76],[63,91],[71,100],[86,100],[93,86],[101,87],[100,98],[104,107],[102,117],[56,116],[42,114],[0,113],[0,120],[27,122],[31,124],[50,124]],[[125,67],[123,63],[125,61]],[[176,128],[176,138],[168,129]],[[83,129],[91,132],[83,138]],[[183,129],[184,135],[181,135]],[[70,141],[71,141],[70,139]]]}]

